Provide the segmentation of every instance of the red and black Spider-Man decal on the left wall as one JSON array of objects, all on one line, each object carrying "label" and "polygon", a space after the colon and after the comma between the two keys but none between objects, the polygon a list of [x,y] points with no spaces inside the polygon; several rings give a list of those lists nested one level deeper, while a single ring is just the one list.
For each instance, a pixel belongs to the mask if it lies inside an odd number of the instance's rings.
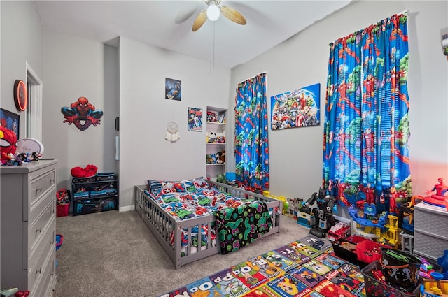
[{"label": "red and black Spider-Man decal on the left wall", "polygon": [[90,125],[101,124],[99,121],[103,116],[103,111],[95,109],[86,97],[79,97],[70,107],[61,108],[61,112],[65,119],[63,123],[74,124],[80,131],[84,131]]}]

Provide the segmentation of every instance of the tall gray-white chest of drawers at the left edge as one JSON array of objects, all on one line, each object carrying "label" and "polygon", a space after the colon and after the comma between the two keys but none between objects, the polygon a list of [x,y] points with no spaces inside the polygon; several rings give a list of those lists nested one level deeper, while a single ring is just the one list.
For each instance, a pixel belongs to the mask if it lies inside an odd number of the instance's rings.
[{"label": "tall gray-white chest of drawers at the left edge", "polygon": [[2,288],[30,297],[52,295],[56,284],[56,161],[0,166]]}]

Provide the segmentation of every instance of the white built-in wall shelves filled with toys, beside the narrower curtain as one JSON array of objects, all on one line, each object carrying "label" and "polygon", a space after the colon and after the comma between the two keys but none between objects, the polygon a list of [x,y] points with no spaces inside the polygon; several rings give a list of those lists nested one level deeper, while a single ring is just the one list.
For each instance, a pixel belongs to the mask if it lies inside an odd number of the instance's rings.
[{"label": "white built-in wall shelves filled with toys, beside the narrower curtain", "polygon": [[[206,174],[207,178],[216,180],[217,175],[225,174],[225,145],[228,140],[226,134],[227,109],[207,106],[206,120]],[[216,138],[209,137],[212,133]],[[224,156],[224,161],[218,161],[221,159],[221,155]]]}]

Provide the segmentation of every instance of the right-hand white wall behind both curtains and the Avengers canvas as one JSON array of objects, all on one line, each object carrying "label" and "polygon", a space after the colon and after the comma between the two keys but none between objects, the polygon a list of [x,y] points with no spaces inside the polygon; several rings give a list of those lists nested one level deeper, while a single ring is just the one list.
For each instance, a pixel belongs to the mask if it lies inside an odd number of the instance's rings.
[{"label": "right-hand white wall behind both curtains and the Avengers canvas", "polygon": [[[267,98],[321,83],[321,123],[328,75],[328,44],[403,10],[409,11],[409,143],[413,191],[423,195],[437,178],[448,180],[448,61],[440,30],[447,27],[447,1],[358,1],[288,41],[232,69],[229,106],[235,86],[267,72]],[[230,108],[232,110],[232,108]],[[270,113],[269,113],[270,117]],[[232,117],[229,117],[230,119]],[[229,123],[230,125],[230,123]],[[323,125],[269,130],[271,194],[309,198],[321,187]],[[228,154],[230,159],[231,154]],[[229,161],[229,164],[235,164]],[[235,169],[235,168],[234,168]]]}]

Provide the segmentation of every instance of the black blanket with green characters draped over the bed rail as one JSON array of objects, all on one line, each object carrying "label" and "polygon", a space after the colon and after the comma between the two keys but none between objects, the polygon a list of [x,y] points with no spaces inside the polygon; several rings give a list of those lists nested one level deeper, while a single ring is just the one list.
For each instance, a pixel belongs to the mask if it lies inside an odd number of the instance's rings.
[{"label": "black blanket with green characters draped over the bed rail", "polygon": [[265,202],[254,201],[237,208],[224,208],[216,212],[216,226],[221,254],[245,247],[272,228],[272,219]]}]

